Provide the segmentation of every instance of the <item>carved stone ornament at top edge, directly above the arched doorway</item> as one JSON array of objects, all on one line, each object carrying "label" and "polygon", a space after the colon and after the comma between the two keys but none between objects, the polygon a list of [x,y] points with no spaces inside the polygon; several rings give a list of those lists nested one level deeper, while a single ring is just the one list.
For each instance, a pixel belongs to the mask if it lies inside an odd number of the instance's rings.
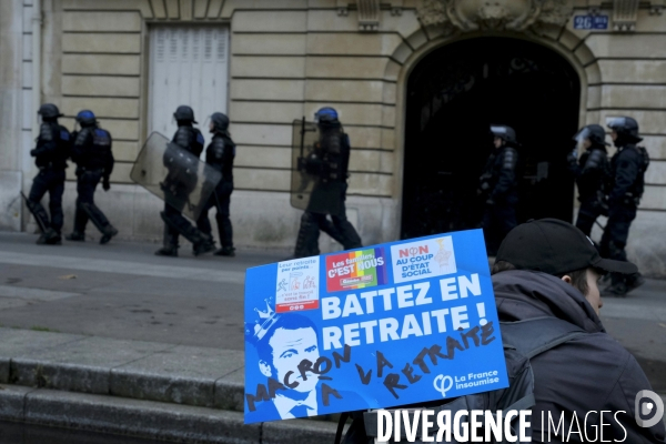
[{"label": "carved stone ornament at top edge, directly above the arched doorway", "polygon": [[573,13],[568,0],[424,0],[417,8],[424,26],[440,24],[463,32],[524,31],[549,23],[564,26]]}]

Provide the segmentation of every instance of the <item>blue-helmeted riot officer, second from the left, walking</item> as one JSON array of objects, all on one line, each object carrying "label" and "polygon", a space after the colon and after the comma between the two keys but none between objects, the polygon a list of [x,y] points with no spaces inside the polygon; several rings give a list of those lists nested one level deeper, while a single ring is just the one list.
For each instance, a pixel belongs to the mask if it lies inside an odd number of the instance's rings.
[{"label": "blue-helmeted riot officer, second from the left, walking", "polygon": [[81,125],[81,130],[72,134],[72,160],[77,163],[77,211],[74,231],[67,240],[84,241],[85,225],[90,220],[102,233],[100,243],[103,245],[118,234],[118,230],[94,203],[94,190],[100,181],[104,191],[111,189],[109,176],[114,164],[111,134],[99,128],[90,110],[80,111],[77,122]]}]

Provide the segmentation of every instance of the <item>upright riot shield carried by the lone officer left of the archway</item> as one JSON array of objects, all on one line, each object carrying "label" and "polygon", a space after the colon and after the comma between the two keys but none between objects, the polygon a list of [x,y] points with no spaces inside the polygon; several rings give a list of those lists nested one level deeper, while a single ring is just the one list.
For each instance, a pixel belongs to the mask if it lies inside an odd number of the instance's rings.
[{"label": "upright riot shield carried by the lone officer left of the archway", "polygon": [[309,160],[316,157],[315,145],[320,133],[316,123],[294,120],[292,130],[292,181],[291,205],[299,210],[307,209],[310,196],[317,181],[316,171],[307,167]]}]

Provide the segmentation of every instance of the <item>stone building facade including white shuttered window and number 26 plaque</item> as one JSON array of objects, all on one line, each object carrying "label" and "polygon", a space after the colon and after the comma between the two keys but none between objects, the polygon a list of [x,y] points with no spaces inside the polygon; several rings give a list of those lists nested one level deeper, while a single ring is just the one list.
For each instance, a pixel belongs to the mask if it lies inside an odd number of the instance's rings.
[{"label": "stone building facade including white shuttered window and number 26 plaque", "polygon": [[[99,204],[122,238],[159,239],[161,203],[132,184],[129,173],[150,131],[171,135],[175,129],[169,120],[173,110],[165,109],[165,103],[184,102],[188,94],[194,94],[192,102],[201,103],[199,109],[194,107],[201,123],[215,110],[228,112],[232,121],[238,155],[231,211],[240,246],[293,246],[301,212],[290,206],[292,121],[303,115],[311,119],[322,105],[340,111],[352,141],[346,201],[350,220],[365,244],[395,240],[410,232],[403,226],[412,211],[406,210],[411,209],[407,204],[420,195],[423,199],[417,186],[410,189],[410,184],[425,181],[417,168],[410,167],[418,163],[414,157],[421,149],[420,141],[424,147],[436,141],[437,125],[442,125],[441,144],[423,148],[430,150],[423,151],[425,163],[427,159],[446,159],[447,150],[467,150],[446,143],[455,128],[446,127],[450,118],[436,120],[437,113],[448,110],[442,112],[453,115],[457,111],[452,110],[458,108],[446,107],[481,100],[472,92],[488,78],[487,67],[494,69],[492,63],[481,63],[483,72],[472,75],[471,68],[456,71],[452,69],[456,64],[447,64],[447,60],[454,60],[455,51],[463,51],[455,60],[464,64],[483,48],[487,49],[483,57],[493,58],[497,52],[494,46],[508,52],[515,47],[518,56],[507,56],[506,72],[516,72],[516,60],[524,51],[535,54],[521,59],[523,68],[533,65],[534,72],[554,73],[555,68],[543,67],[548,58],[557,59],[571,73],[567,81],[573,85],[571,100],[575,103],[562,105],[566,114],[563,120],[568,122],[563,125],[547,114],[553,111],[548,102],[511,110],[506,123],[518,128],[518,137],[522,115],[534,123],[535,115],[544,113],[539,129],[544,140],[559,131],[567,132],[564,139],[561,137],[566,141],[578,125],[603,123],[606,117],[632,115],[638,120],[652,164],[629,251],[643,270],[666,275],[664,7],[664,0],[2,1],[0,225],[6,230],[34,229],[18,193],[29,190],[36,173],[29,157],[36,135],[36,105],[49,101],[64,112],[62,122],[70,128],[79,110],[97,113],[101,125],[114,138],[118,161],[112,189],[98,192]],[[165,32],[162,43],[160,32]],[[218,40],[210,43],[206,39]],[[163,48],[158,49],[159,44]],[[216,46],[211,50],[206,44]],[[178,52],[183,48],[193,54],[188,57],[201,60],[183,62]],[[206,68],[208,56],[201,56],[206,51],[212,51],[214,68]],[[169,54],[172,61],[181,61],[169,70],[180,70],[180,74],[158,79],[155,75],[165,68],[160,71],[157,60]],[[534,62],[537,59],[545,61]],[[426,60],[434,68],[427,68]],[[201,68],[192,68],[195,63]],[[215,74],[205,80],[211,69]],[[422,82],[414,78],[416,72],[425,75]],[[559,81],[565,77],[553,75],[544,79]],[[199,89],[188,89],[188,79],[194,79]],[[176,80],[181,83],[173,83]],[[168,88],[155,87],[160,81],[171,83]],[[205,93],[205,81],[215,84],[210,87],[216,91],[212,102],[211,94]],[[498,81],[493,84],[503,85],[507,98],[517,94],[521,103],[532,103],[521,95],[519,83]],[[167,101],[157,100],[171,93],[173,97]],[[430,95],[425,100],[418,99],[420,94]],[[502,103],[496,108],[511,108],[511,99],[497,100]],[[486,107],[478,102],[478,108]],[[498,113],[484,115],[502,118]],[[437,123],[427,127],[431,120]],[[418,134],[414,135],[415,131]],[[525,134],[529,131],[523,130]],[[426,132],[431,135],[423,139]],[[564,153],[568,149],[562,148]],[[542,162],[545,158],[533,158],[536,172],[531,178],[538,182],[547,176],[547,165]],[[440,171],[442,176],[456,172],[451,165],[444,170]],[[561,174],[557,171],[557,165],[551,165],[551,175]],[[68,172],[65,231],[72,224],[75,199],[73,169]],[[555,215],[571,221],[576,211],[573,181],[564,176],[558,181],[554,189],[561,190],[562,200],[552,195],[564,210]],[[437,191],[431,186],[428,192],[457,192],[455,185],[450,188]],[[539,214],[548,215],[544,199],[539,200],[538,193],[532,199],[535,205],[542,205]],[[438,211],[427,216],[452,218]],[[528,208],[525,214],[529,215]],[[595,235],[598,239],[599,233]],[[321,242],[324,251],[336,248],[327,238]]]}]

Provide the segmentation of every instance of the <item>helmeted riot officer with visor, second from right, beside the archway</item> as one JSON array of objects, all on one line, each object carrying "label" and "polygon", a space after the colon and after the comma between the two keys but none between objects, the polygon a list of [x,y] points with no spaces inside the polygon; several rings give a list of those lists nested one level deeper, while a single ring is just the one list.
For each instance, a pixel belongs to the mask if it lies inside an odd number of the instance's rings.
[{"label": "helmeted riot officer with visor, second from right, beside the archway", "polygon": [[[576,178],[578,185],[578,219],[576,226],[589,236],[592,226],[601,215],[608,215],[608,204],[604,186],[608,179],[608,153],[606,152],[606,133],[598,124],[584,127],[574,137],[576,149],[567,155],[568,169]],[[578,150],[585,150],[577,159]]]}]

